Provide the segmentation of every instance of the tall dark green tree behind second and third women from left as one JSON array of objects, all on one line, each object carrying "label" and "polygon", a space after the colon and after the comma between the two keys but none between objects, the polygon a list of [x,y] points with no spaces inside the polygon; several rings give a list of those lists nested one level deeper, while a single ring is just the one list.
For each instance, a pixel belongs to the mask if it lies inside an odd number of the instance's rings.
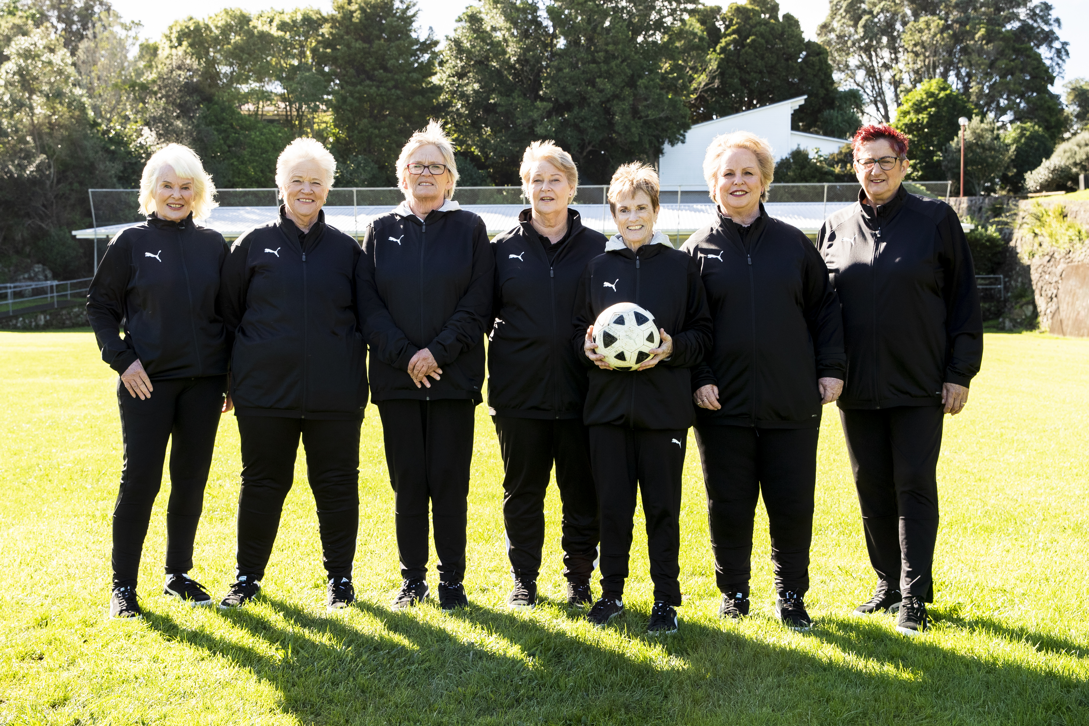
[{"label": "tall dark green tree behind second and third women from left", "polygon": [[337,0],[317,57],[333,79],[332,144],[345,165],[341,183],[392,184],[401,147],[438,115],[435,49],[417,38],[409,0]]}]

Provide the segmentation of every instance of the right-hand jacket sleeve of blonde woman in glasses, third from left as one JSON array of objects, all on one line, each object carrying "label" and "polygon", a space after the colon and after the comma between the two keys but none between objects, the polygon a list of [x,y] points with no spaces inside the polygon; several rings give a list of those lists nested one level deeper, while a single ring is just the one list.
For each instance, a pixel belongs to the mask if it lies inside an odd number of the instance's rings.
[{"label": "right-hand jacket sleeve of blonde woman in glasses, third from left", "polygon": [[439,366],[457,359],[462,353],[480,344],[484,332],[491,327],[495,283],[495,254],[488,242],[488,230],[484,220],[478,220],[473,230],[473,273],[468,287],[457,300],[457,308],[450,316],[442,330],[427,344]]}]

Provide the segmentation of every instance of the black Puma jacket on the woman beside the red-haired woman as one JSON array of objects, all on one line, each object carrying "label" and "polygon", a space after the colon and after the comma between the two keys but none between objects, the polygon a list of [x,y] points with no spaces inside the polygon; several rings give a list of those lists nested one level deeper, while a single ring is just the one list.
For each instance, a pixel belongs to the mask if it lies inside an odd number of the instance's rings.
[{"label": "black Puma jacket on the woman beside the red-haired woman", "polygon": [[[795,226],[760,217],[743,241],[719,212],[681,248],[702,270],[714,344],[693,371],[693,391],[719,386],[719,410],[701,424],[803,429],[820,426],[819,378],[847,378],[840,302],[828,268]],[[748,248],[746,249],[746,244]]]}]

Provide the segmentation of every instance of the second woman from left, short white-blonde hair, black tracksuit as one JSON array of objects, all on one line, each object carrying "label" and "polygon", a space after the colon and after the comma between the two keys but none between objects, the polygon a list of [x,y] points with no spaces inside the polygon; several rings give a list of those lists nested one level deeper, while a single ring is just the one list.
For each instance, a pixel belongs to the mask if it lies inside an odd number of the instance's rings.
[{"label": "second woman from left, short white-blonde hair, black tracksuit", "polygon": [[355,601],[366,346],[355,311],[359,245],[321,210],[335,173],[337,160],[316,139],[289,144],[276,165],[279,218],[238,237],[223,264],[242,491],[235,581],[220,607],[241,607],[260,590],[301,438],[318,508],[326,606]]}]

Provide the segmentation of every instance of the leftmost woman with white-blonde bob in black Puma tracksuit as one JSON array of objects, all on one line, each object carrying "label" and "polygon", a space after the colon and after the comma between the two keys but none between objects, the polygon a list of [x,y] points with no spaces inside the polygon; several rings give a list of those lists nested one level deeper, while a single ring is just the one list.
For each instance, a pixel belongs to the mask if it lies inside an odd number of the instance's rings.
[{"label": "leftmost woman with white-blonde bob in black Puma tracksuit", "polygon": [[140,179],[147,221],[110,242],[87,292],[102,360],[120,376],[124,464],[113,507],[111,617],[142,614],[136,575],[168,442],[163,594],[211,603],[188,571],[220,413],[231,407],[223,397],[228,346],[216,302],[228,246],[219,232],[194,222],[216,207],[215,194],[188,147],[170,144],[154,153]]}]

